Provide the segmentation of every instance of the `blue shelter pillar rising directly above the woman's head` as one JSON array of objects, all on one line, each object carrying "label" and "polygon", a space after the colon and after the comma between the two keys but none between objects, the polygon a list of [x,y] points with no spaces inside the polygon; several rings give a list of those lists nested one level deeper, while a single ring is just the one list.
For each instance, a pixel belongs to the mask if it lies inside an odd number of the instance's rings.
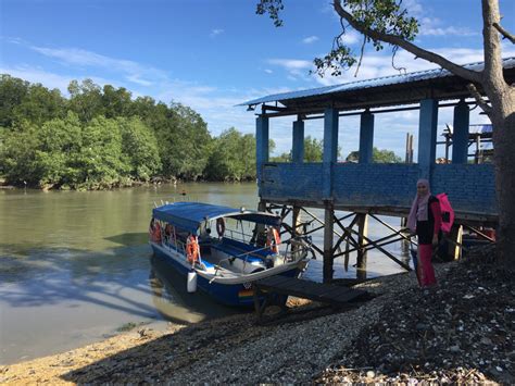
[{"label": "blue shelter pillar rising directly above the woman's head", "polygon": [[438,100],[420,101],[418,123],[418,165],[420,177],[430,178],[437,154]]}]

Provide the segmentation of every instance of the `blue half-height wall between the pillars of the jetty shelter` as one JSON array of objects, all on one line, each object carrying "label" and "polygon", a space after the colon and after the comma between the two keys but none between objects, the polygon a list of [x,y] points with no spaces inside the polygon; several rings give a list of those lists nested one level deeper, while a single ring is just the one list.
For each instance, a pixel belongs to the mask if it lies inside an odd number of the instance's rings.
[{"label": "blue half-height wall between the pillars of the jetty shelter", "polygon": [[[336,204],[410,208],[416,182],[427,169],[418,164],[334,164]],[[322,203],[322,163],[266,163],[261,185],[264,199],[297,199]],[[491,164],[435,164],[431,191],[447,192],[459,213],[497,214],[494,170]]]}]

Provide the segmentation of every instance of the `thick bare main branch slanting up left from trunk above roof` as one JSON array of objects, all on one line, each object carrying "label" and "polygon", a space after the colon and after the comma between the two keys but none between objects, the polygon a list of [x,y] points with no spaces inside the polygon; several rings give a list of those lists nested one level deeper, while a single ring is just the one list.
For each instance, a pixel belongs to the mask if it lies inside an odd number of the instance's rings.
[{"label": "thick bare main branch slanting up left from trunk above roof", "polygon": [[481,72],[464,69],[463,66],[455,64],[435,52],[424,50],[420,47],[400,38],[399,36],[385,34],[375,29],[364,27],[349,12],[347,12],[343,9],[343,7],[341,7],[341,0],[334,0],[332,5],[335,8],[335,11],[338,13],[340,17],[347,20],[354,29],[362,33],[363,35],[366,35],[374,40],[381,40],[393,46],[399,46],[405,49],[406,51],[413,53],[414,55],[425,59],[429,62],[436,63],[457,76],[461,76],[470,82],[481,83],[482,80]]}]

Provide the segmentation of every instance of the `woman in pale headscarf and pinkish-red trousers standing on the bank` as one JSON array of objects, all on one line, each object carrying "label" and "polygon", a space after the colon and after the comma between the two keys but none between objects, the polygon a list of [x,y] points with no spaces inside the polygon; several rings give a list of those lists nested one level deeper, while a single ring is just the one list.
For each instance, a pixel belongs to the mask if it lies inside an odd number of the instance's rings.
[{"label": "woman in pale headscarf and pinkish-red trousers standing on the bank", "polygon": [[431,196],[429,182],[418,179],[407,226],[418,237],[417,278],[420,287],[437,283],[431,264],[432,247],[438,246],[438,234],[442,223],[440,202]]}]

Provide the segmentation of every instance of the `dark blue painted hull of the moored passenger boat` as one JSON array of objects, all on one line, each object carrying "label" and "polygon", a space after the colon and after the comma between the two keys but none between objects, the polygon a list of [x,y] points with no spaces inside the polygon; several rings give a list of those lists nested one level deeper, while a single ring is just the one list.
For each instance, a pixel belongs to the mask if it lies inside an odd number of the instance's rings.
[{"label": "dark blue painted hull of the moored passenger boat", "polygon": [[[185,266],[171,256],[163,252],[160,248],[156,248],[154,245],[152,246],[152,250],[154,254],[159,258],[165,259],[172,266],[185,277],[184,285],[186,286],[186,277],[188,272],[190,271],[189,267]],[[299,274],[299,270],[293,267],[289,271],[285,271],[280,273],[280,276],[286,277],[296,277]],[[246,283],[247,284],[247,283]],[[210,283],[205,277],[202,277],[200,274],[197,275],[197,287],[203,290],[205,294],[213,297],[216,301],[233,307],[253,307],[254,299],[253,299],[253,290],[250,284],[219,284],[216,282]]]}]

